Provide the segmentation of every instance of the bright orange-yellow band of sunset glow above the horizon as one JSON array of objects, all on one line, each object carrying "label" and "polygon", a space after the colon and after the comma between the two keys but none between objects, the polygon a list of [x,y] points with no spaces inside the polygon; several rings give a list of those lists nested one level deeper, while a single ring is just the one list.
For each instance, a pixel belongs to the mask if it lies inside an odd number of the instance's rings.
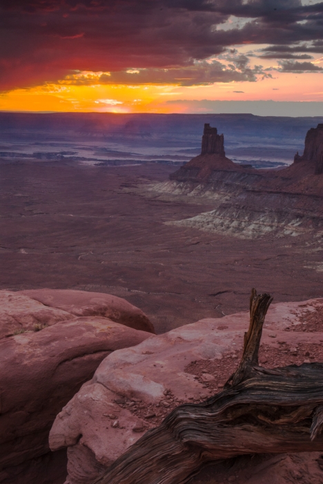
[{"label": "bright orange-yellow band of sunset glow above the horizon", "polygon": [[[95,75],[88,74],[89,79]],[[204,86],[176,84],[45,84],[0,94],[1,111],[74,111],[180,113],[182,100],[323,101],[322,73],[273,73],[257,82],[219,82]],[[168,104],[167,101],[173,101]]]}]

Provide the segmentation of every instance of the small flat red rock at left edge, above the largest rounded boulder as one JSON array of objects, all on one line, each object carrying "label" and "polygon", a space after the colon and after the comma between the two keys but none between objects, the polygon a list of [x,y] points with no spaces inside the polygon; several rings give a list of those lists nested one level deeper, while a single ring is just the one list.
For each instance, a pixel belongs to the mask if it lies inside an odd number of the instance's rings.
[{"label": "small flat red rock at left edge, above the largest rounded boulder", "polygon": [[62,309],[49,308],[21,292],[0,291],[0,339],[39,326],[75,319]]}]

